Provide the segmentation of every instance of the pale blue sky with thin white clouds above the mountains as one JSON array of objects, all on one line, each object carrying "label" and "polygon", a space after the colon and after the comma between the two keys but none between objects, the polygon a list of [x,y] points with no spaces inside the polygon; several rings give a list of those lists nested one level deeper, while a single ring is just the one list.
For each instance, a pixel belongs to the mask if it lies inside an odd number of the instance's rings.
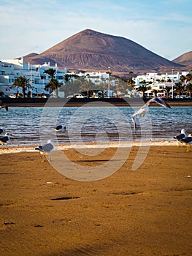
[{"label": "pale blue sky with thin white clouds above the mountains", "polygon": [[0,59],[42,53],[84,29],[170,60],[192,50],[191,0],[1,0],[0,13]]}]

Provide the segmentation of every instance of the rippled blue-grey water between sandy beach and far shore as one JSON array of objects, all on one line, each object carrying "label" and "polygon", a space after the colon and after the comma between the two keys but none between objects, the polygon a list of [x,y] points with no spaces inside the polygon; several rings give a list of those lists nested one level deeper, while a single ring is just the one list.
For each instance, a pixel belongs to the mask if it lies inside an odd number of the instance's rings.
[{"label": "rippled blue-grey water between sandy beach and far shore", "polygon": [[[172,140],[185,128],[192,133],[192,107],[150,107],[145,117],[137,118],[134,131],[131,115],[137,108],[9,108],[0,110],[0,127],[12,133],[10,146],[36,145],[44,140],[58,143]],[[66,125],[66,132],[56,133],[53,127]]]}]

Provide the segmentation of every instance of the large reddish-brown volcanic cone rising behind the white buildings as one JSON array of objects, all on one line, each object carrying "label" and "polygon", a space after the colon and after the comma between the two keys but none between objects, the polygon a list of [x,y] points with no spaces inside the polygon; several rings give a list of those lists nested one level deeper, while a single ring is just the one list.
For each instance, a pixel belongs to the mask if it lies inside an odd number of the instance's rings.
[{"label": "large reddish-brown volcanic cone rising behind the white buildings", "polygon": [[58,64],[60,69],[115,72],[158,72],[183,67],[124,37],[85,29],[37,54],[24,56],[31,64]]}]

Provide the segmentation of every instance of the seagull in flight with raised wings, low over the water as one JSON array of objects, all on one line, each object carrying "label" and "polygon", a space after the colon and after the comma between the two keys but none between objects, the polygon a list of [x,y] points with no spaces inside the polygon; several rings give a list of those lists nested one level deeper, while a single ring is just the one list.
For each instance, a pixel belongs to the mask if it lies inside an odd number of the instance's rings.
[{"label": "seagull in flight with raised wings, low over the water", "polygon": [[150,103],[153,103],[153,102],[156,102],[156,103],[158,103],[158,105],[161,105],[161,106],[163,106],[163,107],[165,107],[165,108],[171,108],[171,107],[169,106],[169,104],[164,101],[164,99],[161,99],[161,98],[158,98],[158,97],[154,97],[154,98],[152,98],[152,99],[149,99],[149,100],[145,103],[145,105],[143,105],[141,108],[139,108],[139,110],[135,111],[135,113],[133,114],[133,116],[131,116],[131,119],[132,119],[132,121],[133,121],[133,123],[134,123],[134,129],[137,128],[136,116],[137,116],[137,115],[145,116],[145,114],[149,112],[149,105],[150,105]]}]

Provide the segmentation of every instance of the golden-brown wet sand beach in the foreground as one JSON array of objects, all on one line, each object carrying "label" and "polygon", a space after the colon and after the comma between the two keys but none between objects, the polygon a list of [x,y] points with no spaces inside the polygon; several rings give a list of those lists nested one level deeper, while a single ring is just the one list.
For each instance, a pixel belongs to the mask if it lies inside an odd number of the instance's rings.
[{"label": "golden-brown wet sand beach in the foreground", "polygon": [[[117,149],[62,150],[78,171],[102,170]],[[115,173],[88,182],[62,175],[30,148],[2,153],[0,255],[192,255],[192,151],[154,144],[132,170],[139,146],[124,150]]]}]

